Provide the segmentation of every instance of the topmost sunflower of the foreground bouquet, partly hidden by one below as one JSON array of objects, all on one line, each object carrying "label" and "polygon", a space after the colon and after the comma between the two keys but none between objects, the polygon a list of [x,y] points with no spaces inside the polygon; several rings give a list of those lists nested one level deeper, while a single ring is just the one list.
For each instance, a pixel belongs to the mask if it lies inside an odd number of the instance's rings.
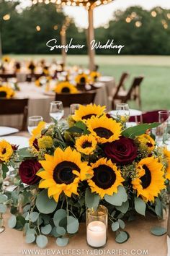
[{"label": "topmost sunflower of the foreground bouquet, partly hidden by one below", "polygon": [[75,121],[86,121],[87,119],[91,119],[91,116],[102,116],[105,114],[106,107],[105,106],[97,106],[95,104],[89,104],[86,106],[81,105],[78,110],[75,111],[73,115],[73,119]]}]

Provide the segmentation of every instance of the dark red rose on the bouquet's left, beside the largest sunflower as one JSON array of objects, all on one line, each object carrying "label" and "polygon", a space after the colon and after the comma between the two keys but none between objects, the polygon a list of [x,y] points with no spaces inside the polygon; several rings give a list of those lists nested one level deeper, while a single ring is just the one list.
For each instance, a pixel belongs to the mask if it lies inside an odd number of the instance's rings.
[{"label": "dark red rose on the bouquet's left, beside the largest sunflower", "polygon": [[37,171],[42,168],[41,164],[35,160],[25,160],[19,166],[19,175],[22,182],[27,185],[34,185],[40,181]]}]

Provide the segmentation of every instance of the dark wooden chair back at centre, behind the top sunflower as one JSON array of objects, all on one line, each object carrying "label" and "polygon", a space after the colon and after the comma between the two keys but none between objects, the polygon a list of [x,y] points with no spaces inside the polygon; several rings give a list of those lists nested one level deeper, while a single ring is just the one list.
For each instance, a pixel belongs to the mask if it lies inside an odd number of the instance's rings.
[{"label": "dark wooden chair back at centre, behind the top sunflower", "polygon": [[94,103],[94,98],[96,96],[96,91],[86,91],[82,93],[56,93],[55,101],[62,101],[63,107],[70,107],[71,104],[77,103],[81,105],[86,105]]}]

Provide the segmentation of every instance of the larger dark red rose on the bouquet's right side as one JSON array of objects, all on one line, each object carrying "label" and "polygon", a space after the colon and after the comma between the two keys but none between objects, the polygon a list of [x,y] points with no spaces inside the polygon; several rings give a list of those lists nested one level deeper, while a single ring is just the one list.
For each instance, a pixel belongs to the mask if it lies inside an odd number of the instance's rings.
[{"label": "larger dark red rose on the bouquet's right side", "polygon": [[119,140],[107,143],[104,147],[104,153],[113,163],[128,164],[132,163],[137,156],[138,148],[134,140],[126,137],[120,137]]}]

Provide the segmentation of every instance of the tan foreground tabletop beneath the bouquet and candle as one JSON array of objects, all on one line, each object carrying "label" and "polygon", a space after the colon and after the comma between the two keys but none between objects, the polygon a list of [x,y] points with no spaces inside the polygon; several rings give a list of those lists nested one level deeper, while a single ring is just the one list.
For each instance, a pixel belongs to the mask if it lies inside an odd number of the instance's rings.
[{"label": "tan foreground tabletop beneath the bouquet and candle", "polygon": [[[5,225],[6,230],[0,234],[0,255],[1,256],[21,256],[23,249],[40,249],[35,244],[26,244],[24,242],[24,236],[22,231],[16,231],[15,229],[9,229],[7,227],[7,218],[9,218],[9,215],[6,214],[5,216]],[[123,244],[117,244],[115,242],[115,234],[109,230],[109,236],[107,241],[107,246],[104,247],[102,255],[109,255],[107,254],[107,250],[109,249],[110,253],[112,250],[115,250],[115,255],[123,255],[119,254],[125,250],[125,252],[128,252],[127,255],[142,255],[141,250],[148,250],[148,254],[143,255],[149,255],[149,256],[167,256],[167,236],[166,234],[164,236],[153,236],[150,233],[150,229],[153,226],[166,226],[166,221],[156,221],[156,218],[138,218],[138,220],[132,221],[130,223],[127,223],[126,231],[130,234],[130,239],[128,239],[127,242]],[[67,249],[91,249],[86,244],[86,226],[84,223],[81,224],[81,227],[79,228],[79,233],[76,234],[76,236],[73,236],[70,239],[69,244],[66,247],[58,247],[55,244],[54,238],[49,238],[49,244],[48,247],[45,249],[53,249],[60,250],[63,252]],[[45,249],[40,249],[41,255],[47,255],[45,254]],[[92,252],[94,252],[93,249],[91,249]],[[133,251],[132,251],[133,250]],[[47,251],[46,251],[47,252]],[[83,252],[83,251],[82,251]],[[134,252],[136,252],[134,254]],[[32,254],[35,255],[35,254]],[[52,255],[52,253],[50,254]],[[55,254],[56,255],[56,254]],[[59,255],[59,254],[58,254]],[[62,254],[61,254],[62,255]],[[63,254],[63,255],[71,255],[70,253]],[[73,255],[73,254],[72,254]],[[81,253],[83,255],[83,253]],[[84,251],[84,255],[94,255],[94,254],[87,254],[86,251]],[[101,254],[100,254],[101,255]],[[114,254],[112,254],[114,255]]]}]

